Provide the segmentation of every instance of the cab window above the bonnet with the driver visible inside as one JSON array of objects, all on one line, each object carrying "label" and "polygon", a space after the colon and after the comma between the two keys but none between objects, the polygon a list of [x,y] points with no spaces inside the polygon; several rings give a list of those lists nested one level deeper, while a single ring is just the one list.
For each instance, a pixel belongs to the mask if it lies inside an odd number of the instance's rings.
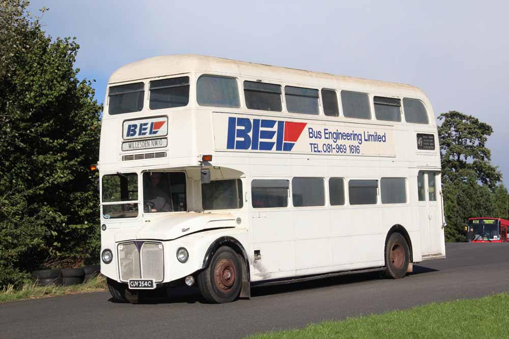
[{"label": "cab window above the bonnet with the driver visible inside", "polygon": [[143,209],[146,213],[187,210],[185,174],[143,173]]}]

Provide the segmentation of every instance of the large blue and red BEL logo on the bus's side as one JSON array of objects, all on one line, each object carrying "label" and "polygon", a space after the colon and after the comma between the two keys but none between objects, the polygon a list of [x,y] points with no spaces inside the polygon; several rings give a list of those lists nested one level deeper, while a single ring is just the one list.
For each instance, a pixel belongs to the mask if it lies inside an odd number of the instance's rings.
[{"label": "large blue and red BEL logo on the bus's side", "polygon": [[306,122],[228,118],[227,149],[291,151]]}]

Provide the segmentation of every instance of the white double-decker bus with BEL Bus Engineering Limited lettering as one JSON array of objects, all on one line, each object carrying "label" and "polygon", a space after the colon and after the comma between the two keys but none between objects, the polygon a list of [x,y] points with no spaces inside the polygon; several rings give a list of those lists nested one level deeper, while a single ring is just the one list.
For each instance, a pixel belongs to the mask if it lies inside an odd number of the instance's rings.
[{"label": "white double-decker bus with BEL Bus Engineering Limited lettering", "polygon": [[440,153],[416,87],[196,55],[108,81],[101,272],[119,301],[445,257]]}]

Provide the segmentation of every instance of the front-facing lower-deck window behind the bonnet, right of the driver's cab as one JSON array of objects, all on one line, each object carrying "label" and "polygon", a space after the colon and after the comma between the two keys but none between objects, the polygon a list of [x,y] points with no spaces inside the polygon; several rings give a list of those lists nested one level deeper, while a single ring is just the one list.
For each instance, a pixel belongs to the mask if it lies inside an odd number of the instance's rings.
[{"label": "front-facing lower-deck window behind the bonnet, right of the driver's cab", "polygon": [[215,180],[202,183],[202,207],[205,210],[242,208],[242,181]]}]

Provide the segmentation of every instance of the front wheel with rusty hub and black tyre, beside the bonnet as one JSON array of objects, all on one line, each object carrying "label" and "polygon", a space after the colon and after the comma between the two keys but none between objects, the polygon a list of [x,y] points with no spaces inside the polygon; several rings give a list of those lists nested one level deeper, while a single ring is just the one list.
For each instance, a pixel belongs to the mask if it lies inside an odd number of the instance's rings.
[{"label": "front wheel with rusty hub and black tyre, beside the bonnet", "polygon": [[198,274],[200,293],[208,302],[224,303],[235,300],[242,286],[242,266],[237,253],[221,246],[209,267]]}]

